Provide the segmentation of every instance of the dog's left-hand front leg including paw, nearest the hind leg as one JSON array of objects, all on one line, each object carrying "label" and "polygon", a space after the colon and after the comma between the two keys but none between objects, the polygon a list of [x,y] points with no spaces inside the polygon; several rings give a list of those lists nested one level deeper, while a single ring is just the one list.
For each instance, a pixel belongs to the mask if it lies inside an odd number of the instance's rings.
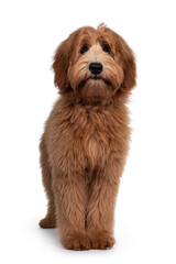
[{"label": "dog's left-hand front leg including paw, nearest the hind leg", "polygon": [[68,168],[67,174],[54,174],[57,228],[66,249],[88,250],[90,242],[85,230],[86,183],[82,175],[75,170]]}]

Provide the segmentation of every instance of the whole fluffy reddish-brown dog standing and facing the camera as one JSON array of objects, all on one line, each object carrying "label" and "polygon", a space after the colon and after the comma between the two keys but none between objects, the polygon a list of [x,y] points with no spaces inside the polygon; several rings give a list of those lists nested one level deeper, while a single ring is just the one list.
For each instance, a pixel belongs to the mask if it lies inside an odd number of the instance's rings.
[{"label": "whole fluffy reddish-brown dog standing and facing the camera", "polygon": [[42,228],[69,250],[111,249],[114,207],[130,142],[128,100],[136,84],[127,42],[100,24],[72,33],[54,55],[59,89],[42,135],[48,198]]}]

